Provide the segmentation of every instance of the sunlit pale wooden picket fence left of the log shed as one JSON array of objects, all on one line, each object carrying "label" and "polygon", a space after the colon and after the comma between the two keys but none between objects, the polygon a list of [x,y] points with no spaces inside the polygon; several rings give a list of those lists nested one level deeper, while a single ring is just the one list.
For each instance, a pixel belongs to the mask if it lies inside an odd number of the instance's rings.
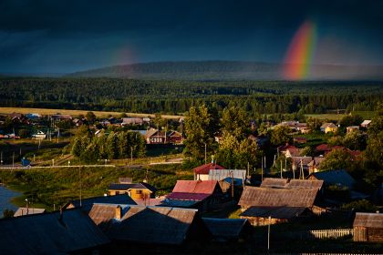
[{"label": "sunlit pale wooden picket fence left of the log shed", "polygon": [[298,238],[300,240],[316,240],[316,239],[339,239],[346,236],[352,236],[354,234],[353,229],[343,230],[308,230],[301,232],[291,232],[287,235],[292,238]]}]

